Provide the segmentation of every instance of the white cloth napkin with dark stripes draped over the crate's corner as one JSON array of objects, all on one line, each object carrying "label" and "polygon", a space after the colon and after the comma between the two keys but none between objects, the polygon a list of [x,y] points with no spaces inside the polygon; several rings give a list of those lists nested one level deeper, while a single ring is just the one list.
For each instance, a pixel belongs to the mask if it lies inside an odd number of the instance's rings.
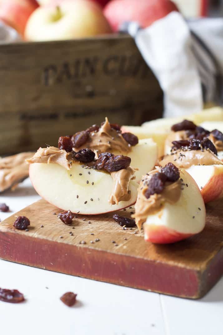
[{"label": "white cloth napkin with dark stripes draped over the crate's corner", "polygon": [[[159,80],[164,91],[165,117],[201,111],[203,99],[220,101],[218,67],[223,65],[223,19],[218,21],[218,30],[216,19],[204,20],[210,20],[209,24],[202,19],[187,22],[180,13],[171,12],[145,29],[140,29],[136,22],[126,22],[121,28],[135,38],[144,60]],[[207,47],[209,39],[212,41]],[[217,60],[209,48],[215,49]]]}]

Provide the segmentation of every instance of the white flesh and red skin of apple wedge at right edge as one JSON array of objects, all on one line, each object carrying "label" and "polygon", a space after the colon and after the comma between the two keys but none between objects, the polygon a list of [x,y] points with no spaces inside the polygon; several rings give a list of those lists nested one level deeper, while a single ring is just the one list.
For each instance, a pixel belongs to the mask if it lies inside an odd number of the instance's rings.
[{"label": "white flesh and red skin of apple wedge at right edge", "polygon": [[222,197],[223,165],[192,165],[187,172],[196,181],[205,203]]}]

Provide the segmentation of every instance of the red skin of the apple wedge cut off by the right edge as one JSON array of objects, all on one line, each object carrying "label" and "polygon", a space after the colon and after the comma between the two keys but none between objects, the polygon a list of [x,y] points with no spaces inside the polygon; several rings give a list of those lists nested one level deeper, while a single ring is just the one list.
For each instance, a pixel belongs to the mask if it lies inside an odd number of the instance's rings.
[{"label": "red skin of the apple wedge cut off by the right edge", "polygon": [[223,193],[223,172],[216,173],[200,191],[205,204],[220,198]]}]

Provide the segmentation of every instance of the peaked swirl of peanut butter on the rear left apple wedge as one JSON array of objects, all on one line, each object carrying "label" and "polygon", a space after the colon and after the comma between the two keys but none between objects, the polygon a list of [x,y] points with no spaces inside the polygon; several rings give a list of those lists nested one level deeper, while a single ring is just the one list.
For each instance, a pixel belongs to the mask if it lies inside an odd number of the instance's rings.
[{"label": "peaked swirl of peanut butter on the rear left apple wedge", "polygon": [[120,151],[128,153],[131,151],[131,145],[123,138],[121,133],[110,127],[108,119],[100,127],[98,132],[91,132],[89,139],[82,146],[74,148],[75,151],[88,148],[96,150],[98,154],[102,152]]}]

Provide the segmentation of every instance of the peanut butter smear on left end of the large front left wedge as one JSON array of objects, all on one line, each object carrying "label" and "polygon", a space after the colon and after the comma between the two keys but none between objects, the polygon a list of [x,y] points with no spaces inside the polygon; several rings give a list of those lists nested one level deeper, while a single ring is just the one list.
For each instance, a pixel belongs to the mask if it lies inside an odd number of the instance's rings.
[{"label": "peanut butter smear on left end of the large front left wedge", "polygon": [[55,163],[65,167],[66,170],[70,170],[72,166],[72,154],[60,150],[56,147],[39,148],[33,157],[26,159],[29,164],[32,163]]}]

